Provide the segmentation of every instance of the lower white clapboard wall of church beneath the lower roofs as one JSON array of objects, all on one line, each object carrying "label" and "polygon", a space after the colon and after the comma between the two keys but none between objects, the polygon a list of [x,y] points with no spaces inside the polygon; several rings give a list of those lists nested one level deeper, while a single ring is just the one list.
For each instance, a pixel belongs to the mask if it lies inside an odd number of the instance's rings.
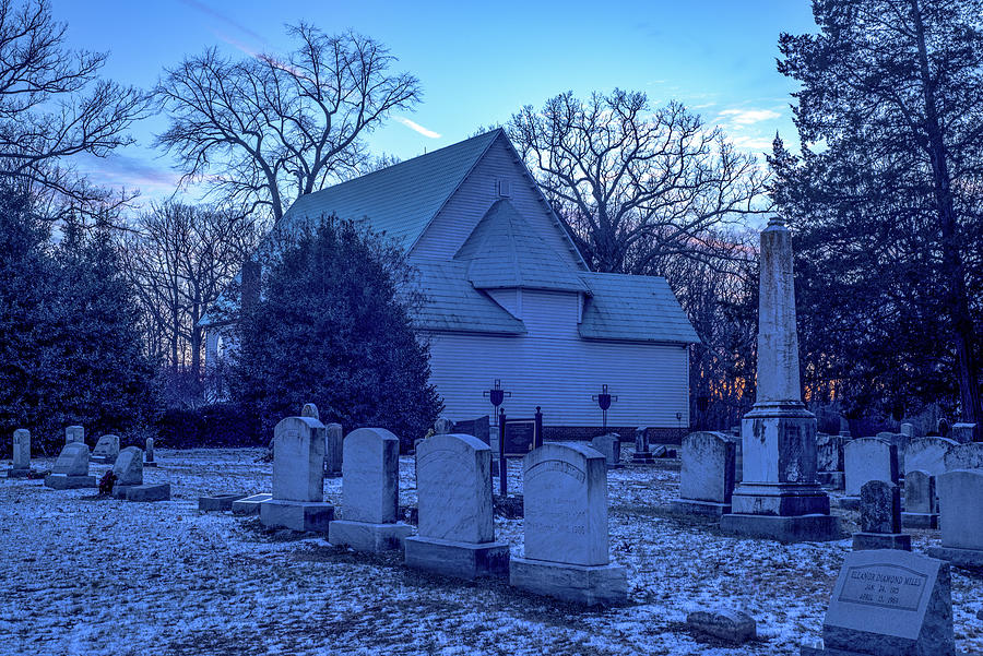
[{"label": "lower white clapboard wall of church beneath the lower roofs", "polygon": [[[591,395],[606,383],[618,396],[611,426],[689,426],[689,357],[683,346],[580,338],[576,294],[523,290],[529,334],[507,337],[431,333],[430,382],[453,420],[492,412],[482,392],[501,379],[512,393],[504,407],[532,416],[543,407],[547,426],[600,426]],[[682,418],[676,418],[680,413]]]}]

